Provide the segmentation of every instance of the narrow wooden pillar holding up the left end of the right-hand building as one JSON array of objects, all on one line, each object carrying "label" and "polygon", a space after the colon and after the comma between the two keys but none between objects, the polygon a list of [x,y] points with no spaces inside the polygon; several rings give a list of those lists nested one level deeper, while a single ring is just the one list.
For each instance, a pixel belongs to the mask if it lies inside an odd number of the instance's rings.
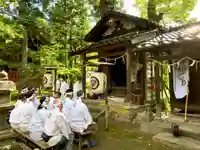
[{"label": "narrow wooden pillar holding up the left end of the right-hand building", "polygon": [[[159,54],[156,54],[159,56]],[[161,117],[161,104],[160,104],[160,66],[155,64],[155,83],[156,83],[156,117]]]}]

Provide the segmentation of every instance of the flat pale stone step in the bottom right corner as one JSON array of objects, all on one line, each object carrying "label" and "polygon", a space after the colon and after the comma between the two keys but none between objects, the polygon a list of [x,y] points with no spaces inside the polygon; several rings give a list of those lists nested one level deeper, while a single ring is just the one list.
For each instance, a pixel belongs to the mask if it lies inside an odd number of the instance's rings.
[{"label": "flat pale stone step in the bottom right corner", "polygon": [[200,150],[200,141],[184,136],[174,137],[168,132],[153,136],[153,140],[177,149]]}]

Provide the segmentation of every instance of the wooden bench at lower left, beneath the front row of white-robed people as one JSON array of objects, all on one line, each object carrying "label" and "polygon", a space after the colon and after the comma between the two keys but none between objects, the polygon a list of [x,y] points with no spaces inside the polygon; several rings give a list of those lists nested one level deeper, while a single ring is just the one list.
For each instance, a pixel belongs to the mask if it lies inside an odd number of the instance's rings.
[{"label": "wooden bench at lower left, beneath the front row of white-robed people", "polygon": [[20,136],[19,138],[23,140],[25,144],[28,144],[29,142],[31,142],[32,144],[37,146],[40,150],[53,150],[53,147],[49,146],[45,141],[36,142],[29,137],[28,133],[21,132],[19,129],[13,129],[13,131]]}]

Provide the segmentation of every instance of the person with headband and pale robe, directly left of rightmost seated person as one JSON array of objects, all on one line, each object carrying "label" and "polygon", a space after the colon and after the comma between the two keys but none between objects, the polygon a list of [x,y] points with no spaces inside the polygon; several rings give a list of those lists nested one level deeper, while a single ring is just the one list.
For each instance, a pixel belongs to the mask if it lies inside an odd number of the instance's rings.
[{"label": "person with headband and pale robe, directly left of rightmost seated person", "polygon": [[68,89],[65,93],[64,100],[63,100],[63,109],[62,112],[65,115],[65,118],[68,122],[70,122],[71,118],[71,109],[74,105],[74,101],[72,100],[73,90]]}]

